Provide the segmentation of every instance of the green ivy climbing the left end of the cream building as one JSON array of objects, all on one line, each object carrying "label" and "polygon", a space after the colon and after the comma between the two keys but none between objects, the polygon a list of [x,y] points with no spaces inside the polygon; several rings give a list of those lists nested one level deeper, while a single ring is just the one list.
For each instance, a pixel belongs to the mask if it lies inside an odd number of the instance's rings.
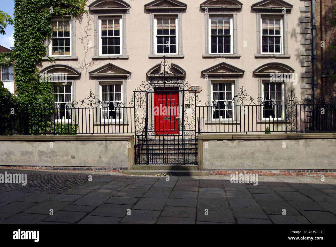
[{"label": "green ivy climbing the left end of the cream building", "polygon": [[[30,108],[29,133],[43,133],[50,121],[53,107],[52,84],[39,80],[38,66],[47,56],[45,40],[52,34],[53,16],[80,17],[87,0],[15,0],[15,51],[0,54],[0,65],[14,62],[16,94],[20,104]],[[52,60],[52,59],[49,59]],[[34,109],[45,109],[36,111]],[[48,109],[48,110],[47,110]]]}]

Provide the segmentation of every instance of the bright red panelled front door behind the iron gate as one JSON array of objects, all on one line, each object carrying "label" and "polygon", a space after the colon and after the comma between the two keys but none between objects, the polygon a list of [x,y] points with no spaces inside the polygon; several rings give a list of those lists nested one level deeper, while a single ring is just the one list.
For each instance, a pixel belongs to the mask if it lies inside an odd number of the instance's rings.
[{"label": "bright red panelled front door behind the iron gate", "polygon": [[155,134],[179,134],[178,92],[155,92],[154,98]]}]

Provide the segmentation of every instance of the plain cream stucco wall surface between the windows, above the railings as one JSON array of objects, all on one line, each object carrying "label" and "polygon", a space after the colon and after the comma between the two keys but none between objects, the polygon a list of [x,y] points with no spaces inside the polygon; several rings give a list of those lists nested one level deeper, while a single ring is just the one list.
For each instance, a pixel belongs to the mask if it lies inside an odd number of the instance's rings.
[{"label": "plain cream stucco wall surface between the windows, above the railings", "polygon": [[[89,0],[87,5],[92,3]],[[127,80],[127,99],[124,100],[128,106],[133,90],[139,86],[142,81],[146,80],[146,72],[154,65],[161,62],[162,58],[149,58],[150,54],[150,12],[144,9],[144,4],[149,0],[131,1],[130,13],[126,13],[126,50],[129,55],[128,59],[92,59],[94,56],[94,13],[90,12],[82,16],[82,19],[76,20],[76,54],[78,59],[75,60],[55,60],[56,64],[66,64],[72,66],[81,72],[81,76],[76,79],[76,99],[81,100],[87,96],[88,90],[95,92],[95,79],[90,77],[88,72],[97,69],[107,63],[112,63],[125,70],[130,71],[131,78]],[[292,67],[295,73],[298,73],[299,80],[297,85],[287,83],[288,89],[293,89],[298,99],[300,95],[305,94],[300,84],[303,79],[300,73],[305,72],[300,62],[304,61],[300,57],[300,40],[305,39],[304,34],[300,34],[299,18],[302,18],[299,7],[304,6],[304,2],[299,0],[288,0],[293,5],[290,13],[287,14],[288,29],[288,54],[289,58],[284,57],[262,57],[257,58],[257,21],[256,11],[251,9],[251,5],[256,0],[241,0],[243,6],[237,13],[238,22],[238,53],[241,57],[215,57],[204,58],[205,53],[205,13],[200,8],[203,2],[195,0],[184,0],[187,4],[186,10],[182,11],[182,38],[183,38],[183,58],[168,57],[168,64],[175,63],[186,71],[185,79],[190,85],[202,86],[199,96],[202,105],[207,101],[207,81],[201,74],[211,66],[224,61],[230,65],[238,67],[245,71],[243,76],[239,77],[238,87],[245,87],[246,92],[252,97],[258,97],[258,77],[253,71],[259,66],[275,62],[283,63]],[[88,7],[86,7],[88,8]],[[244,47],[246,41],[247,47]],[[92,47],[88,47],[88,43],[92,42]],[[41,69],[51,65],[48,61],[42,62]]]}]

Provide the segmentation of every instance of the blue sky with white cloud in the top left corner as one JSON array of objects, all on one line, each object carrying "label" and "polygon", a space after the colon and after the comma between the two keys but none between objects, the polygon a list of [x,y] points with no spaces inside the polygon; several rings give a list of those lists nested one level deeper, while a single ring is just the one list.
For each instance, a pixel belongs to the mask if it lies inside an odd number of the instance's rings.
[{"label": "blue sky with white cloud in the top left corner", "polygon": [[[10,14],[14,19],[14,0],[0,0],[0,10]],[[6,35],[0,34],[0,45],[9,48],[14,46],[14,27],[7,25],[5,29]]]}]

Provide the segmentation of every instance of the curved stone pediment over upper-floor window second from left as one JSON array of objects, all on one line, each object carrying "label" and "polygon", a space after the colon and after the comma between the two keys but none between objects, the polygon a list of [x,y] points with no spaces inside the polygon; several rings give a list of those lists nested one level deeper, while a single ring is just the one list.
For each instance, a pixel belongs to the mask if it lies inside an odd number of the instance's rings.
[{"label": "curved stone pediment over upper-floor window second from left", "polygon": [[130,5],[122,0],[97,0],[89,5],[89,9],[93,12],[126,12],[129,8]]}]

